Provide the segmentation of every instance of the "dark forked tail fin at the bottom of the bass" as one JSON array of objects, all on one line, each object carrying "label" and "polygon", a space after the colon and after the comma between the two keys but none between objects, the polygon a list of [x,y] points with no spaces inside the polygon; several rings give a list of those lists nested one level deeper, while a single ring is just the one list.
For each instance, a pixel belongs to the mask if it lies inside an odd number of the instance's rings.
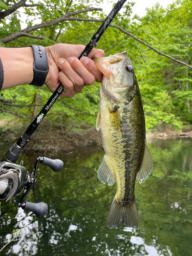
[{"label": "dark forked tail fin at the bottom of the bass", "polygon": [[114,198],[108,215],[108,227],[117,227],[120,221],[122,221],[122,224],[127,227],[138,228],[139,217],[137,212],[136,199],[134,200],[134,203],[132,205],[122,207],[117,203],[116,199]]}]

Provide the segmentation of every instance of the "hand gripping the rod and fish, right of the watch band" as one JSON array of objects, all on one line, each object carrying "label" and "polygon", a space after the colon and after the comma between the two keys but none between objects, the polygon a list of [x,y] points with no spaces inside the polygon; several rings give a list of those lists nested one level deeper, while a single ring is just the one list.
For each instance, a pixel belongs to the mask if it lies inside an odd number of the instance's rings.
[{"label": "hand gripping the rod and fish, right of the watch band", "polygon": [[64,90],[61,96],[73,97],[82,92],[84,86],[95,81],[101,82],[102,73],[97,69],[92,57],[104,57],[104,51],[93,49],[89,57],[78,59],[84,50],[83,45],[57,44],[46,47],[49,72],[45,80],[46,86],[54,92],[62,83]]}]

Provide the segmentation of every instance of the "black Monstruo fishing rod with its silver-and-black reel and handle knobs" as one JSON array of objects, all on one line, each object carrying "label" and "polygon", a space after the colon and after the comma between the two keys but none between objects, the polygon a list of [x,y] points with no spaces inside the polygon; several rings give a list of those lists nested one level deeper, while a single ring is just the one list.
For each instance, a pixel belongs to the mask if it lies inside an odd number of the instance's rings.
[{"label": "black Monstruo fishing rod with its silver-and-black reel and handle knobs", "polygon": [[[108,26],[115,18],[116,14],[120,11],[125,2],[126,0],[118,0],[110,14],[105,18],[104,22],[99,27],[97,32],[93,35],[92,39],[90,40],[86,48],[84,48],[78,59],[87,56],[94,47],[97,47],[97,42],[99,41],[100,37],[102,36],[106,28],[108,28]],[[22,191],[22,189],[24,188],[24,193],[22,198],[20,199],[18,206],[22,207],[25,210],[34,212],[34,214],[37,216],[44,216],[47,213],[47,204],[44,202],[25,202],[24,200],[31,188],[36,183],[38,164],[41,163],[47,165],[51,167],[54,172],[60,172],[63,167],[63,162],[59,159],[52,160],[46,157],[38,157],[31,175],[28,173],[27,169],[23,165],[15,164],[15,162],[19,159],[25,145],[29,141],[29,138],[35,132],[39,123],[46,116],[46,114],[51,109],[62,91],[63,86],[62,84],[59,84],[58,88],[52,94],[52,96],[47,101],[42,110],[39,112],[37,117],[29,125],[24,135],[21,136],[11,148],[9,148],[4,158],[0,162],[0,201],[9,201],[11,198],[20,193],[20,191]]]}]

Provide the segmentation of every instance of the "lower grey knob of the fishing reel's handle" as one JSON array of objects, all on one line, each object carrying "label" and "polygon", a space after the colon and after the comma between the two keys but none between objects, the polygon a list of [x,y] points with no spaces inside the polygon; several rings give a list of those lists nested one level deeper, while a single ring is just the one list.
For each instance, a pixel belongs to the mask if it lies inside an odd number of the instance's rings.
[{"label": "lower grey knob of the fishing reel's handle", "polygon": [[48,205],[44,202],[39,202],[39,203],[24,202],[22,205],[22,209],[32,211],[36,216],[43,217],[47,214]]}]

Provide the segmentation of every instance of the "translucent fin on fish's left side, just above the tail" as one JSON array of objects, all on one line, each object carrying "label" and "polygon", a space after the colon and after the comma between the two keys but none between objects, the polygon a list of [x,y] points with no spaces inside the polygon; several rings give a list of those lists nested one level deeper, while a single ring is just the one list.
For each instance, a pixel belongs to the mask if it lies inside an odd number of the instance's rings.
[{"label": "translucent fin on fish's left side, just above the tail", "polygon": [[104,184],[108,182],[109,186],[115,183],[115,176],[112,174],[110,170],[108,159],[105,155],[98,169],[98,178]]}]

